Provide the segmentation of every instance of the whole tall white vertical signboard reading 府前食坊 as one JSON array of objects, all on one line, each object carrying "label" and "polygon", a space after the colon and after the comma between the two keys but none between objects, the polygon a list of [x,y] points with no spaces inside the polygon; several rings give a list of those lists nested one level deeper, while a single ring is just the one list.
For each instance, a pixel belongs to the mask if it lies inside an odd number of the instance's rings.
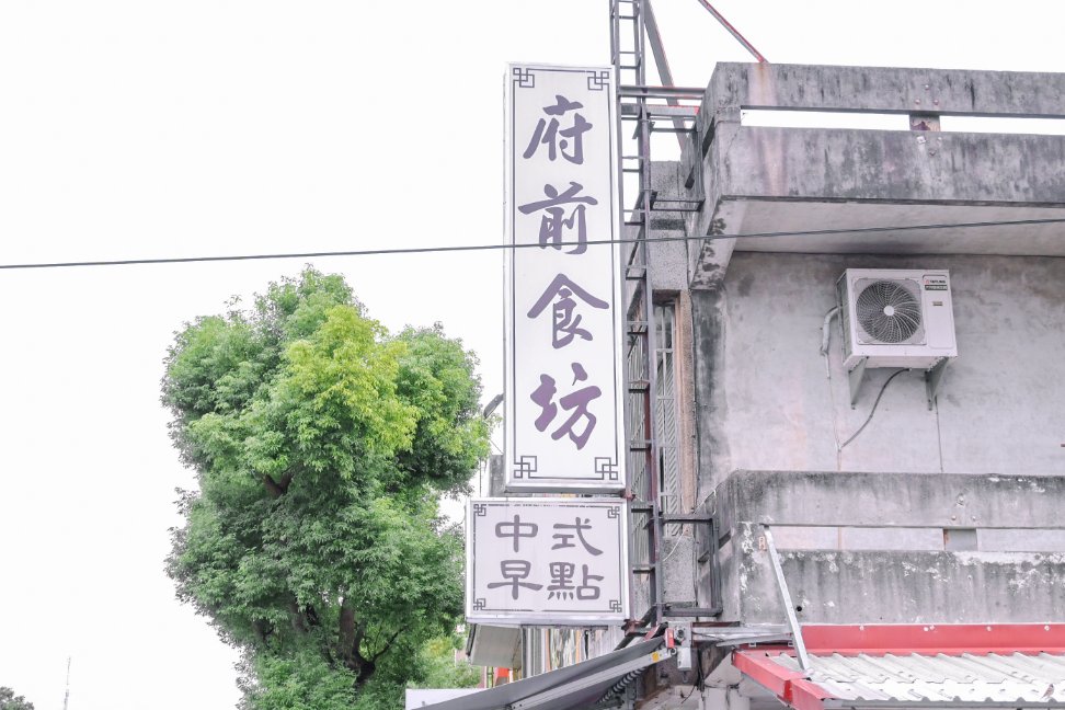
[{"label": "whole tall white vertical signboard reading \u5e9c\u524d\u98df\u574a", "polygon": [[507,489],[620,491],[614,70],[511,65],[506,88]]}]

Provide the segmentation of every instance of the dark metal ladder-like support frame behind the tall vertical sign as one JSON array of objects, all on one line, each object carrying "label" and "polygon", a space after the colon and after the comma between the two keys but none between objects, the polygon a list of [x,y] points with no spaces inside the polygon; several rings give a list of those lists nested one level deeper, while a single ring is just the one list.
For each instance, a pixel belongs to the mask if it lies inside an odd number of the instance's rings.
[{"label": "dark metal ladder-like support frame behind the tall vertical sign", "polygon": [[[733,27],[721,13],[706,0],[699,0],[706,10],[722,24],[758,61],[765,57]],[[689,213],[698,211],[701,199],[687,199],[683,195],[659,198],[652,186],[651,135],[672,133],[677,137],[682,153],[686,142],[695,140],[695,119],[698,105],[682,105],[682,101],[699,102],[702,89],[686,89],[674,85],[669,64],[665,56],[657,21],[650,0],[609,0],[610,3],[610,62],[614,66],[618,84],[618,136],[621,141],[618,167],[620,173],[622,205],[622,229],[627,239],[634,238],[631,253],[623,260],[623,277],[632,286],[627,322],[628,337],[628,398],[627,434],[630,453],[630,529],[633,536],[633,576],[646,576],[649,584],[649,609],[639,619],[630,620],[626,631],[628,639],[663,627],[669,617],[714,617],[721,614],[720,575],[718,571],[717,543],[719,538],[717,520],[710,515],[667,514],[661,500],[661,471],[659,470],[660,446],[656,440],[656,408],[654,399],[659,392],[657,348],[654,325],[654,291],[650,283],[648,260],[651,237],[652,211]],[[650,47],[659,71],[661,85],[648,84],[648,56]],[[655,119],[665,125],[655,125]],[[621,131],[622,122],[633,122],[635,129],[632,138],[626,139]],[[634,152],[626,152],[627,146],[634,144]],[[626,175],[637,176],[637,197],[632,208],[626,207]],[[700,176],[701,179],[701,176]],[[691,185],[688,185],[691,187]],[[695,194],[702,195],[701,183]],[[634,236],[631,233],[634,231]],[[707,551],[700,562],[709,561],[711,569],[710,607],[673,607],[665,599],[661,548],[665,525],[705,525],[708,538]],[[646,561],[635,559],[642,549],[639,536],[646,534]],[[635,585],[632,585],[633,587]],[[649,629],[650,627],[650,629]]]}]

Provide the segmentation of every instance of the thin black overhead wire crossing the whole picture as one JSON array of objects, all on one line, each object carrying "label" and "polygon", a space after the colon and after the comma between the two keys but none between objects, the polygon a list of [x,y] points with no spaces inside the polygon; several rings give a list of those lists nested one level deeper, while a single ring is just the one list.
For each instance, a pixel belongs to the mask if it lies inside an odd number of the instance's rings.
[{"label": "thin black overhead wire crossing the whole picture", "polygon": [[[1032,227],[1038,225],[1062,225],[1065,217],[1046,219],[1017,219],[1000,221],[975,221],[975,222],[949,222],[941,225],[896,225],[893,227],[858,227],[851,229],[808,229],[802,231],[771,231],[771,232],[745,232],[732,234],[709,234],[706,237],[655,237],[648,239],[649,243],[677,242],[677,241],[705,241],[722,239],[780,239],[785,237],[829,237],[833,234],[869,234],[881,232],[897,231],[920,231],[937,229],[973,229],[985,227]],[[599,244],[634,244],[639,239],[589,239],[584,242],[586,245]],[[559,242],[552,247],[570,248],[579,247],[580,242]],[[84,266],[139,266],[148,264],[193,264],[204,262],[231,262],[231,261],[262,261],[268,259],[322,259],[327,256],[379,256],[397,254],[440,254],[449,252],[473,252],[473,251],[494,251],[502,249],[532,249],[541,248],[539,243],[528,244],[456,244],[451,247],[403,247],[396,249],[354,249],[342,251],[319,251],[319,252],[283,252],[273,254],[232,254],[222,256],[170,256],[160,259],[114,259],[100,261],[70,261],[70,262],[37,262],[24,264],[0,264],[0,270],[28,270],[28,268],[73,268]]]}]

